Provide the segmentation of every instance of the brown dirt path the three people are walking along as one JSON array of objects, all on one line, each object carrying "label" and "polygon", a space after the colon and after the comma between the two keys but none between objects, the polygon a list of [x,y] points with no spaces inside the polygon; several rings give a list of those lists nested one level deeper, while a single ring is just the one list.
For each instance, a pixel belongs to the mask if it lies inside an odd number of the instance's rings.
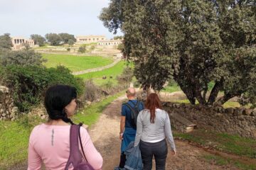
[{"label": "brown dirt path the three people are walking along", "polygon": [[[103,170],[112,170],[119,164],[120,140],[119,140],[119,115],[122,102],[125,96],[113,101],[99,120],[89,130],[95,147],[102,154],[104,159]],[[188,142],[175,141],[177,154],[176,157],[168,155],[166,170],[205,170],[205,169],[237,169],[233,166],[218,166],[203,159],[203,155],[210,154],[201,148],[189,145]],[[169,149],[170,150],[170,149]]]}]

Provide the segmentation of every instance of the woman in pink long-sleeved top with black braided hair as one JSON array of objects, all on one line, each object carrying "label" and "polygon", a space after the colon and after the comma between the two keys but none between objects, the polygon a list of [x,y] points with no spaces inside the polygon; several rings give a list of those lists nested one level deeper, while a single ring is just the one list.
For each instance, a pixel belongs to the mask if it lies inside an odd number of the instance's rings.
[{"label": "woman in pink long-sleeved top with black braided hair", "polygon": [[[72,86],[55,85],[46,91],[44,104],[49,120],[37,125],[31,132],[28,170],[41,169],[42,162],[46,169],[65,169],[70,155],[70,124],[74,124],[70,116],[75,113],[76,98],[77,92]],[[94,169],[101,169],[102,156],[95,149],[85,128],[80,128],[80,136],[87,162]]]}]

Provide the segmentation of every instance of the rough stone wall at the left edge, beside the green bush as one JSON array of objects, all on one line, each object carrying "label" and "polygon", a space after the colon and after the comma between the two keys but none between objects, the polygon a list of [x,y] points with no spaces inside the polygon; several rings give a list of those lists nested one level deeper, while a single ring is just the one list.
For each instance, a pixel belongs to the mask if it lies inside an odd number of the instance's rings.
[{"label": "rough stone wall at the left edge, beside the green bush", "polygon": [[0,86],[0,120],[16,120],[18,118],[18,108],[14,106],[9,89]]}]

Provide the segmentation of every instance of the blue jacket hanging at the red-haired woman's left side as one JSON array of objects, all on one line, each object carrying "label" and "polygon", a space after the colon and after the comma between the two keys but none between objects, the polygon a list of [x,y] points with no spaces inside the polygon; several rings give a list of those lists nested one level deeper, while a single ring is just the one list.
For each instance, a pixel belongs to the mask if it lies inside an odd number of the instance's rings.
[{"label": "blue jacket hanging at the red-haired woman's left side", "polygon": [[130,142],[124,154],[127,157],[125,162],[125,169],[142,170],[142,154],[139,145],[134,147],[134,141]]}]

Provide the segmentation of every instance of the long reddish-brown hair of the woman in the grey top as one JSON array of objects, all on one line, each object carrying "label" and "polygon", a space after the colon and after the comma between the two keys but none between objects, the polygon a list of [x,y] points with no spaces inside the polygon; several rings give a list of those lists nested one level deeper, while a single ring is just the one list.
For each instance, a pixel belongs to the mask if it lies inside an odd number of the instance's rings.
[{"label": "long reddish-brown hair of the woman in the grey top", "polygon": [[154,123],[154,119],[156,118],[156,108],[161,108],[159,96],[157,96],[157,94],[149,94],[146,98],[145,107],[150,111],[150,122]]}]

